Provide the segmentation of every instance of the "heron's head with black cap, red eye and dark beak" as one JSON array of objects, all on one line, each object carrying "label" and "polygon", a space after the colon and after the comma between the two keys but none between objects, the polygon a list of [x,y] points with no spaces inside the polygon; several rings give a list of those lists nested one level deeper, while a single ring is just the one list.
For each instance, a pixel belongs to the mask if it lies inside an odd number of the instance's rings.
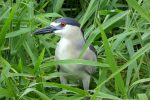
[{"label": "heron's head with black cap, red eye and dark beak", "polygon": [[46,28],[39,29],[35,31],[33,34],[48,34],[54,33],[61,37],[74,37],[76,35],[81,35],[80,24],[68,17],[59,18],[52,22],[50,26]]}]

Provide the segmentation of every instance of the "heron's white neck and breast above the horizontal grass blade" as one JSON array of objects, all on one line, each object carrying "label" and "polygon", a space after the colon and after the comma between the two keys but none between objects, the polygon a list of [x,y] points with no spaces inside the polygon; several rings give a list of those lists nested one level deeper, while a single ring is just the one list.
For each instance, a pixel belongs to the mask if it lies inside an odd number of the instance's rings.
[{"label": "heron's white neck and breast above the horizontal grass blade", "polygon": [[55,56],[58,60],[78,58],[85,40],[82,34],[74,37],[61,37],[57,44]]}]

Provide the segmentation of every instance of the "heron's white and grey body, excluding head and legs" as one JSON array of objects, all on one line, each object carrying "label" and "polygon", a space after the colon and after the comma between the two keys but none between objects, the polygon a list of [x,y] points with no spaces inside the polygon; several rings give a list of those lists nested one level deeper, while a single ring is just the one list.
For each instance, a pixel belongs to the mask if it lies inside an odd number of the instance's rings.
[{"label": "heron's white and grey body, excluding head and legs", "polygon": [[[77,43],[77,44],[76,44]],[[74,42],[70,39],[62,38],[56,47],[55,57],[57,60],[66,60],[66,59],[78,59],[82,50],[82,47],[85,42],[81,44],[81,42]],[[69,50],[68,50],[69,49]],[[96,61],[96,56],[94,52],[88,48],[82,59]],[[88,67],[85,65],[60,65],[60,70],[64,72],[85,72],[88,74],[92,74],[95,72],[94,67]]]}]

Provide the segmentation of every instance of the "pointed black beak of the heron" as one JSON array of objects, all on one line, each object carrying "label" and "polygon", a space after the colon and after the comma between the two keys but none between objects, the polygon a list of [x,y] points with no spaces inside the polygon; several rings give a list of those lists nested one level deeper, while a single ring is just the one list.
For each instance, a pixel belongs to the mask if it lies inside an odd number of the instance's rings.
[{"label": "pointed black beak of the heron", "polygon": [[53,33],[54,31],[59,30],[59,29],[60,27],[58,26],[48,26],[46,28],[36,30],[35,32],[33,32],[33,34],[35,35],[48,34],[48,33]]}]

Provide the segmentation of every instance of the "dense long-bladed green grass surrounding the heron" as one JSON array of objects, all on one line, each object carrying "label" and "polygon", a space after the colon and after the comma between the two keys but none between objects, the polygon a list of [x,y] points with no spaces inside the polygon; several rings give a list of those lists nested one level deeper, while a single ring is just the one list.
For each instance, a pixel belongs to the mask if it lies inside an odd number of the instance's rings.
[{"label": "dense long-bladed green grass surrounding the heron", "polygon": [[[98,62],[56,61],[59,37],[32,32],[59,17],[81,23]],[[150,99],[150,0],[0,0],[0,99]],[[57,64],[97,66],[90,93],[59,82]],[[64,94],[66,93],[67,94]]]}]

